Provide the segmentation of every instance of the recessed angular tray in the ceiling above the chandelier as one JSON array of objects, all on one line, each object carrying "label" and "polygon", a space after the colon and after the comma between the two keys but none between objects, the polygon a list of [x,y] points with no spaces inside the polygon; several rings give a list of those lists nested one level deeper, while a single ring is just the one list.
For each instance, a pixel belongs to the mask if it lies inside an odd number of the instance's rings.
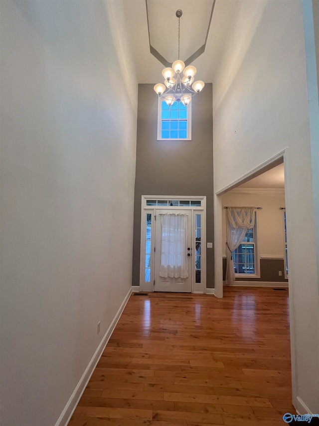
[{"label": "recessed angular tray in the ceiling above the chandelier", "polygon": [[[189,65],[205,51],[215,0],[145,0],[150,52],[164,65],[171,66],[178,56],[178,18],[180,17],[179,58]],[[200,22],[200,25],[194,24]]]}]

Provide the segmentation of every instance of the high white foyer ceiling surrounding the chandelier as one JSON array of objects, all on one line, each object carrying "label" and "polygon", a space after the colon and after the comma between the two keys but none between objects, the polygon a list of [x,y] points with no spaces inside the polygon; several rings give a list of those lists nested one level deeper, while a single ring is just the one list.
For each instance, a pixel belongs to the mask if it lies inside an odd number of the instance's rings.
[{"label": "high white foyer ceiling surrounding the chandelier", "polygon": [[[236,14],[237,3],[238,0],[215,1],[205,52],[192,62],[197,68],[196,78],[205,83],[213,81],[228,29]],[[163,50],[163,53],[169,56],[167,60],[177,59],[178,18],[175,15],[177,9],[183,11],[180,18],[180,59],[187,59],[200,47],[203,33],[206,37],[211,0],[148,0],[148,7],[152,44],[155,48],[159,46],[157,50]],[[164,66],[150,53],[146,1],[124,0],[124,10],[138,82],[162,82],[161,71]]]}]

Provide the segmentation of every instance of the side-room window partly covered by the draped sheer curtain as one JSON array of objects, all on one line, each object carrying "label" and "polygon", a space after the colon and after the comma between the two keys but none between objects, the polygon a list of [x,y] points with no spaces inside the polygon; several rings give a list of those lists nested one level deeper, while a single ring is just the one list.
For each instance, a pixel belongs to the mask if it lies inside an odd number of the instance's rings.
[{"label": "side-room window partly covered by the draped sheer curtain", "polygon": [[[255,213],[256,214],[256,213]],[[256,275],[256,216],[254,228],[247,229],[242,243],[232,252],[235,274]]]}]

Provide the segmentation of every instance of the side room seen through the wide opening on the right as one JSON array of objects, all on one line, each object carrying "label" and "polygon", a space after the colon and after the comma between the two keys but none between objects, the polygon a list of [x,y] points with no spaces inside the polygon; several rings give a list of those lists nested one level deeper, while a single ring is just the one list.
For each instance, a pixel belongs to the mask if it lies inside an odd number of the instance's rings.
[{"label": "side room seen through the wide opening on the right", "polygon": [[[223,285],[288,288],[284,164],[227,191],[221,200]],[[252,209],[252,227],[233,229],[232,215],[244,214],[247,207]]]}]

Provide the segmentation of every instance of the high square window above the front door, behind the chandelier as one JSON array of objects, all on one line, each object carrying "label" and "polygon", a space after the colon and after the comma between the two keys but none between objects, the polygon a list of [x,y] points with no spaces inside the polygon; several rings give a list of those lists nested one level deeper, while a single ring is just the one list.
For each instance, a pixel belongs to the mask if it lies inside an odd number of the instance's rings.
[{"label": "high square window above the front door, behind the chandelier", "polygon": [[158,140],[191,140],[191,104],[171,107],[159,98]]}]

